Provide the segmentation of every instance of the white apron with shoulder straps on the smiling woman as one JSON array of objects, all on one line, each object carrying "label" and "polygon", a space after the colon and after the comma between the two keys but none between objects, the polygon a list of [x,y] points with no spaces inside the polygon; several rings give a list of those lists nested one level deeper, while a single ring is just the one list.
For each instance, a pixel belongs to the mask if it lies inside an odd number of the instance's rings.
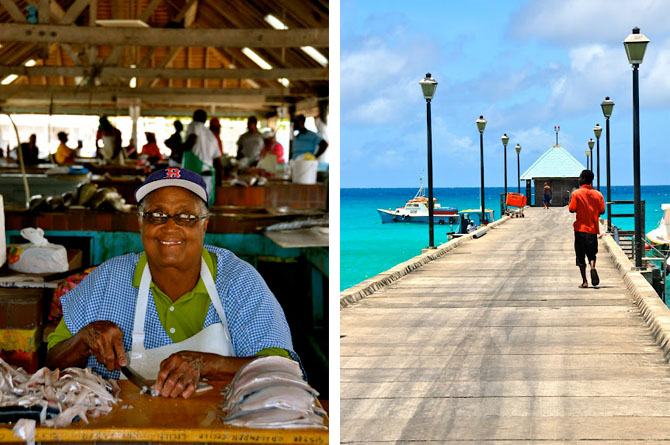
[{"label": "white apron with shoulder straps on the smiling woman", "polygon": [[[235,356],[233,343],[228,332],[226,313],[223,310],[219,293],[214,285],[212,274],[209,272],[209,268],[203,259],[201,259],[200,264],[200,277],[207,288],[207,293],[214,305],[214,309],[219,314],[221,323],[210,325],[194,336],[179,343],[172,343],[153,349],[144,349],[144,323],[149,301],[149,284],[151,282],[149,265],[147,264],[144,267],[142,280],[140,281],[140,290],[137,295],[137,304],[135,306],[133,345],[128,358],[129,365],[147,380],[155,380],[158,376],[161,362],[175,352],[198,351],[228,357]],[[125,377],[122,376],[122,378]]]}]

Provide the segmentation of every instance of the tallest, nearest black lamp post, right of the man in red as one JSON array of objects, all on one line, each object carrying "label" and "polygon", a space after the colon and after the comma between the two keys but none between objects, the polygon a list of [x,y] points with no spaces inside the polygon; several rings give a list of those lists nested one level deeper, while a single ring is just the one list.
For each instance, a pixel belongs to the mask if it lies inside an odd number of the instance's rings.
[{"label": "tallest, nearest black lamp post, right of the man in red", "polygon": [[626,37],[623,45],[626,48],[628,61],[633,65],[633,199],[635,201],[635,267],[642,268],[642,202],[640,199],[640,82],[638,68],[644,58],[649,39],[640,34],[640,28],[633,28],[633,33]]}]

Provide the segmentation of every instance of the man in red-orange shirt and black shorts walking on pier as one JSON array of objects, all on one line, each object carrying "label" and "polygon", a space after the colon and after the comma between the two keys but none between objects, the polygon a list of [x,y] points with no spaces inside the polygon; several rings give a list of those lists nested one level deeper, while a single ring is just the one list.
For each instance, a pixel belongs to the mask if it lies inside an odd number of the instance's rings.
[{"label": "man in red-orange shirt and black shorts walking on pier", "polygon": [[605,200],[602,193],[593,189],[593,172],[582,170],[579,175],[579,189],[572,192],[568,209],[577,213],[575,223],[575,255],[577,266],[582,274],[582,284],[579,287],[589,287],[586,281],[586,262],[584,255],[589,259],[591,266],[591,284],[600,284],[596,272],[596,254],[598,253],[598,234],[600,225],[598,219],[605,213]]}]

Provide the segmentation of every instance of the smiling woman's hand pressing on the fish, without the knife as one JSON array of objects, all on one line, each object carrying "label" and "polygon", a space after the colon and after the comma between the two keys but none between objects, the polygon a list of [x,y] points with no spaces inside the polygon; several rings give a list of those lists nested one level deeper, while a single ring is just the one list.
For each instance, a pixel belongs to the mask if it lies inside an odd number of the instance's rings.
[{"label": "smiling woman's hand pressing on the fish, without the knife", "polygon": [[204,367],[203,354],[180,351],[161,362],[154,390],[163,397],[191,397]]}]

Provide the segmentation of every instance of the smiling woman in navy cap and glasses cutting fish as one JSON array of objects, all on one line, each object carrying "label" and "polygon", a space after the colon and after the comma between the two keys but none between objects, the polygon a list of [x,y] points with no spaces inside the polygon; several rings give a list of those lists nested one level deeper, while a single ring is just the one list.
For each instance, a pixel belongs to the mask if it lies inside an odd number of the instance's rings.
[{"label": "smiling woman in navy cap and glasses cutting fish", "polygon": [[101,264],[62,297],[47,366],[90,366],[119,378],[130,365],[164,397],[190,397],[198,379],[232,374],[257,355],[298,360],[284,313],[258,272],[204,246],[204,180],[178,167],[135,192],[144,253]]}]

